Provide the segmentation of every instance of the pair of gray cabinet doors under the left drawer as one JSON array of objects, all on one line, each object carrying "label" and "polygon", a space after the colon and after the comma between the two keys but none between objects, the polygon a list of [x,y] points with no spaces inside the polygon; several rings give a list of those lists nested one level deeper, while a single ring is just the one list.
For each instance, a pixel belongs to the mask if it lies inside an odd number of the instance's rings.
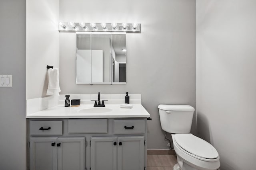
[{"label": "pair of gray cabinet doors under the left drawer", "polygon": [[31,137],[30,170],[84,170],[83,137]]}]

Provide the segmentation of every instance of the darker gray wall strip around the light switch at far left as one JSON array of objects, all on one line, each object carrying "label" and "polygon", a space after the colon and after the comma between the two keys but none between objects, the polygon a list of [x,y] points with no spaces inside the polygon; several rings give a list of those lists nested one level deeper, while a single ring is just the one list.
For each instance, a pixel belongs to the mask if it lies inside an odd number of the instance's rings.
[{"label": "darker gray wall strip around the light switch at far left", "polygon": [[12,87],[0,88],[0,169],[26,168],[26,0],[0,1],[0,74]]}]

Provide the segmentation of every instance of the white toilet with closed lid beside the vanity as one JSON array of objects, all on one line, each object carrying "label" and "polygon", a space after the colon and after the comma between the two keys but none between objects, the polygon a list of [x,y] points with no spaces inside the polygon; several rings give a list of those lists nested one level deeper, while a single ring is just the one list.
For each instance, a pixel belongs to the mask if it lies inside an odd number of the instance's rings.
[{"label": "white toilet with closed lid beside the vanity", "polygon": [[220,167],[217,150],[190,133],[194,107],[160,104],[158,109],[162,129],[172,133],[178,161],[173,170],[217,170]]}]

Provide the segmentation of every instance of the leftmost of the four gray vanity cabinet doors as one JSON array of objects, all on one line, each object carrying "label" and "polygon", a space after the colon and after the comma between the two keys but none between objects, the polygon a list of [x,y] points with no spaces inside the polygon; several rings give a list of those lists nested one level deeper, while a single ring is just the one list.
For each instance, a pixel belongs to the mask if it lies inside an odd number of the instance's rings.
[{"label": "leftmost of the four gray vanity cabinet doors", "polygon": [[57,170],[56,137],[30,138],[30,170]]}]

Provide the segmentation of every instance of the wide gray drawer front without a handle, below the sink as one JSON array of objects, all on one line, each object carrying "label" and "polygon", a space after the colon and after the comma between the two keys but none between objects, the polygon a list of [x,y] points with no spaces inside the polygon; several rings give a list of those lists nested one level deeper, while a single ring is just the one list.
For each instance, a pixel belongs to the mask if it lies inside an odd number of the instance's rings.
[{"label": "wide gray drawer front without a handle, below the sink", "polygon": [[108,119],[69,119],[68,133],[108,133]]}]

